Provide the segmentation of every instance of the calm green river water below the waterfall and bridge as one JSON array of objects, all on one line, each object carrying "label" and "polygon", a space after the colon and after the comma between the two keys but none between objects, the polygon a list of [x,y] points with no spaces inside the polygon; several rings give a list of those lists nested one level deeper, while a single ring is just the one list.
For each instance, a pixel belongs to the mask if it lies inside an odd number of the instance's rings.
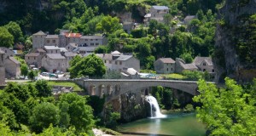
[{"label": "calm green river water below the waterfall and bridge", "polygon": [[195,118],[195,113],[176,113],[167,115],[166,118],[145,118],[119,126],[119,132],[125,135],[205,135],[206,128]]}]

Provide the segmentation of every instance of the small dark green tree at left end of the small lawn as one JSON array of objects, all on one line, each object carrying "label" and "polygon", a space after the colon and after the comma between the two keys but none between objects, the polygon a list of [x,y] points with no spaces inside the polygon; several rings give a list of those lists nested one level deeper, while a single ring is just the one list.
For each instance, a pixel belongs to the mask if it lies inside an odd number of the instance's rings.
[{"label": "small dark green tree at left end of the small lawn", "polygon": [[36,88],[38,89],[38,96],[39,97],[48,97],[51,96],[52,91],[48,82],[45,80],[38,80],[36,82]]}]

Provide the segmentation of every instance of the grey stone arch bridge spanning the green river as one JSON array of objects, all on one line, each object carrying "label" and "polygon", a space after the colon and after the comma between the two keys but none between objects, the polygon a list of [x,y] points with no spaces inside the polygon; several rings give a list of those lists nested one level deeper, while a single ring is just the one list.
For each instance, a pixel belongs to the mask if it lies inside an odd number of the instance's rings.
[{"label": "grey stone arch bridge spanning the green river", "polygon": [[[120,94],[129,93],[138,88],[148,88],[162,86],[174,88],[188,94],[197,95],[197,82],[194,81],[177,81],[177,80],[129,80],[129,79],[79,79],[74,80],[80,86],[87,89],[89,95],[102,97],[103,94],[108,99],[114,99]],[[213,82],[212,82],[213,83]]]}]

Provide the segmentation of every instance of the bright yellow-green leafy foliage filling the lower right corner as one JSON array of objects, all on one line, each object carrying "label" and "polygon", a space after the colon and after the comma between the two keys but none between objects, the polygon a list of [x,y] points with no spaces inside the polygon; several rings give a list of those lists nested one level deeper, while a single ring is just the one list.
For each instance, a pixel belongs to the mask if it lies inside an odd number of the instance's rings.
[{"label": "bright yellow-green leafy foliage filling the lower right corner", "polygon": [[[255,84],[253,84],[255,87]],[[216,88],[200,80],[200,95],[195,96],[197,117],[207,124],[211,135],[252,135],[256,131],[255,92],[245,92],[230,78],[225,78],[225,88]],[[230,97],[231,96],[231,97]]]}]

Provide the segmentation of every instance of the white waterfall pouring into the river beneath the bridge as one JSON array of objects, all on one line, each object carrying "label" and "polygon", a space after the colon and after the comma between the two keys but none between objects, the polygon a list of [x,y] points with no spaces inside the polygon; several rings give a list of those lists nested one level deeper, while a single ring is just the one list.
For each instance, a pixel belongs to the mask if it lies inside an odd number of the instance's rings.
[{"label": "white waterfall pouring into the river beneath the bridge", "polygon": [[146,100],[150,104],[150,113],[152,118],[162,118],[166,115],[161,114],[160,107],[157,103],[157,100],[153,96],[146,96]]}]

